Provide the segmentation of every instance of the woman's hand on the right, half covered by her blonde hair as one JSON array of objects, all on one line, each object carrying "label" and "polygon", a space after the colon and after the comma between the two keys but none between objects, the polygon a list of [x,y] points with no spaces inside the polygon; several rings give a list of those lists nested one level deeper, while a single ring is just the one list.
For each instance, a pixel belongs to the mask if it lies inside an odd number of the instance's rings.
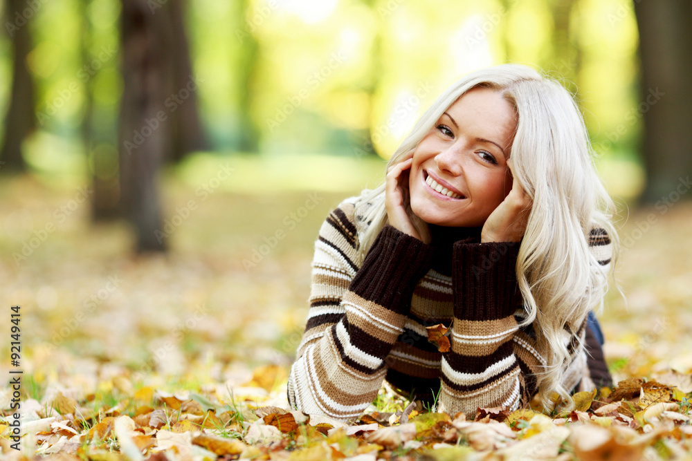
[{"label": "woman's hand on the right, half covered by her blonde hair", "polygon": [[[511,163],[507,162],[511,173]],[[513,180],[512,190],[504,201],[495,208],[483,225],[480,234],[481,242],[519,242],[524,236],[529,223],[533,202],[519,185]]]}]

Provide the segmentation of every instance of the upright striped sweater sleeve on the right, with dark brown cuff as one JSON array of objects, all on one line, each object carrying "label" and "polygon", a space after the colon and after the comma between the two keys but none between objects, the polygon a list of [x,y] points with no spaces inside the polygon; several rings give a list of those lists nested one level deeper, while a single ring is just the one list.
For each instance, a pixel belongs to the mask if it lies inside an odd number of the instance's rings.
[{"label": "upright striped sweater sleeve on the right, with dark brown cuff", "polygon": [[522,370],[512,341],[519,329],[518,251],[519,243],[460,241],[453,247],[454,321],[450,350],[442,355],[442,411],[518,408]]}]

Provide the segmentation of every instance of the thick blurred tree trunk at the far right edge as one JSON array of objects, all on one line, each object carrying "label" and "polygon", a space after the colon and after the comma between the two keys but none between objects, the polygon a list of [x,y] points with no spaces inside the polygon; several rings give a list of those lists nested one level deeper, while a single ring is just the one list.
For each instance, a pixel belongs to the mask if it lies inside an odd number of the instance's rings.
[{"label": "thick blurred tree trunk at the far right edge", "polygon": [[647,175],[642,200],[659,203],[689,191],[684,181],[692,175],[692,1],[635,0],[634,7],[641,58],[635,116],[644,116]]}]

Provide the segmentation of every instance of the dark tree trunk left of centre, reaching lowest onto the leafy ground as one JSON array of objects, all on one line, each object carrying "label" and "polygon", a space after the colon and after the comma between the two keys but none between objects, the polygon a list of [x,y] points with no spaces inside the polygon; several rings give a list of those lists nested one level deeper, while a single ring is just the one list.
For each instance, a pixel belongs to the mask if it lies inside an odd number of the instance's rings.
[{"label": "dark tree trunk left of centre, reaching lowest onto the leafy ground", "polygon": [[136,250],[167,247],[158,197],[158,172],[172,153],[169,8],[165,3],[122,0],[122,100],[120,102],[120,199],[136,229]]}]

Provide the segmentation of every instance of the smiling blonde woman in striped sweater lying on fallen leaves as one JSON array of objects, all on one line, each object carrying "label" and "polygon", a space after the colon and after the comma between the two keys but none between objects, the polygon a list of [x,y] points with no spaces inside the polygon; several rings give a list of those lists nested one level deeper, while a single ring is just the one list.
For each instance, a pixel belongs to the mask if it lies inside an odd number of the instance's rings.
[{"label": "smiling blonde woman in striped sweater lying on fallen leaves", "polygon": [[[594,332],[616,236],[579,110],[505,64],[421,116],[383,185],[320,229],[288,397],[354,420],[383,379],[439,410],[526,405],[610,384]],[[426,326],[450,326],[448,352]],[[588,343],[588,346],[585,344]]]}]

